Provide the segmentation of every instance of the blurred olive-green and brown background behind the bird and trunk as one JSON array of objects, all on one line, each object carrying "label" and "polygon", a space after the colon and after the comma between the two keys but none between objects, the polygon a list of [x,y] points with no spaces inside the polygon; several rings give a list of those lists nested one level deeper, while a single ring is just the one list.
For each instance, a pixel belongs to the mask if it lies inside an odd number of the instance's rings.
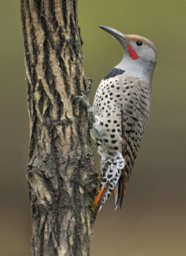
[{"label": "blurred olive-green and brown background behind the bird and trunk", "polygon": [[[98,214],[92,256],[185,256],[186,1],[79,0],[78,8],[86,76],[94,79],[91,103],[100,80],[123,57],[99,24],[147,37],[158,52],[150,119],[123,207],[114,211],[111,196]],[[0,1],[0,28],[0,256],[31,256],[19,0]]]}]

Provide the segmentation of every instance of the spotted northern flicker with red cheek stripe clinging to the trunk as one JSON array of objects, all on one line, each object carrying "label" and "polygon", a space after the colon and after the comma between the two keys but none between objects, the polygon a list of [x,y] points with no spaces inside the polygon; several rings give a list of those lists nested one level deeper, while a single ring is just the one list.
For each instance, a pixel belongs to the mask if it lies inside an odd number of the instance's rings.
[{"label": "spotted northern flicker with red cheek stripe clinging to the trunk", "polygon": [[101,155],[100,192],[95,211],[114,194],[114,207],[122,205],[126,184],[150,113],[156,50],[147,38],[100,25],[124,49],[124,58],[100,82],[93,107],[84,101],[92,125],[91,134]]}]

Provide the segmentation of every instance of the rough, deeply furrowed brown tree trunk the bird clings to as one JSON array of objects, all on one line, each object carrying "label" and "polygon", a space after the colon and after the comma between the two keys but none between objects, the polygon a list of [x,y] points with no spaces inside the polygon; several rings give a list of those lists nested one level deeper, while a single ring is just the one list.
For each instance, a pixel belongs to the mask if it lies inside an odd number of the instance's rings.
[{"label": "rough, deeply furrowed brown tree trunk the bird clings to", "polygon": [[21,0],[30,116],[32,255],[89,255],[97,173],[77,0]]}]

